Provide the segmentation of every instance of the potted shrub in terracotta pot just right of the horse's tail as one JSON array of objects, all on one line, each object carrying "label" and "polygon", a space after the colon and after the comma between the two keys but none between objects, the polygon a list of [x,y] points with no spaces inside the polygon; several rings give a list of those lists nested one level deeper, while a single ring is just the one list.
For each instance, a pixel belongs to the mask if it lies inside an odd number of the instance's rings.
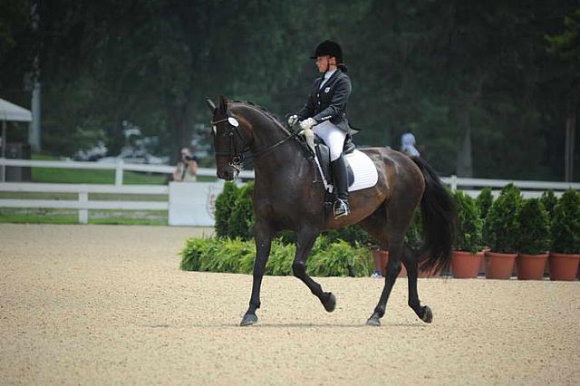
[{"label": "potted shrub in terracotta pot just right of the horse's tail", "polygon": [[483,253],[481,238],[483,221],[475,199],[461,191],[454,193],[457,207],[455,242],[451,255],[453,277],[460,279],[478,277]]}]

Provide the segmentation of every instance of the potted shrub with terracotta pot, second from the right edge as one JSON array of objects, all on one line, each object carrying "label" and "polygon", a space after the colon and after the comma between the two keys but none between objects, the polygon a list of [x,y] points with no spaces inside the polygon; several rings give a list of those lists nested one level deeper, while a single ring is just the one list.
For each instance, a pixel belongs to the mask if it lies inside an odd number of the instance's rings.
[{"label": "potted shrub with terracotta pot, second from the right edge", "polygon": [[518,222],[517,278],[541,280],[550,242],[550,223],[542,201],[538,198],[525,200]]}]

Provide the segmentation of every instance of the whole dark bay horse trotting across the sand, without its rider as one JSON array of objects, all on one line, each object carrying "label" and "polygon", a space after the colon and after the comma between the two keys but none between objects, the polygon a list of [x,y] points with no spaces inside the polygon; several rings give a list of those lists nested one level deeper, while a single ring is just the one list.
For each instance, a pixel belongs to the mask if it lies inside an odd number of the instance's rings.
[{"label": "whole dark bay horse trotting across the sand, without its rider", "polygon": [[[255,163],[253,207],[256,214],[256,261],[249,308],[241,325],[257,322],[260,286],[273,237],[283,230],[297,233],[294,275],[310,288],[327,312],[333,312],[336,298],[306,275],[306,259],[317,236],[324,230],[360,226],[389,250],[389,263],[379,303],[369,325],[380,325],[392,285],[407,268],[409,305],[420,319],[430,323],[430,307],[421,305],[417,293],[419,263],[423,269],[449,266],[454,207],[437,173],[422,159],[409,158],[386,148],[363,149],[374,162],[379,180],[373,188],[350,195],[352,213],[334,219],[324,211],[325,191],[316,178],[317,169],[307,157],[303,143],[270,114],[248,102],[228,102],[221,97],[218,107],[208,100],[213,113],[212,135],[216,151],[218,178],[231,180],[239,172],[240,157],[249,150]],[[420,205],[423,245],[419,250],[407,246],[404,236]]]}]

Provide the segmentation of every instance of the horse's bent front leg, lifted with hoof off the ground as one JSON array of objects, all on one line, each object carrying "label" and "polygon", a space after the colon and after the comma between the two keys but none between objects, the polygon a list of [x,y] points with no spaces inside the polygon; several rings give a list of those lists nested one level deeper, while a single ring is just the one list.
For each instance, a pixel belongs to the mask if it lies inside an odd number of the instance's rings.
[{"label": "horse's bent front leg, lifted with hoof off the ground", "polygon": [[298,244],[296,246],[296,255],[294,263],[292,263],[292,271],[294,275],[302,280],[305,285],[310,288],[310,291],[320,299],[320,302],[324,305],[324,309],[329,313],[334,311],[336,306],[336,297],[333,293],[324,292],[323,287],[316,283],[312,277],[306,275],[306,259],[310,255],[312,246],[314,246],[314,241],[318,237],[319,232],[317,229],[304,228],[298,233]]}]

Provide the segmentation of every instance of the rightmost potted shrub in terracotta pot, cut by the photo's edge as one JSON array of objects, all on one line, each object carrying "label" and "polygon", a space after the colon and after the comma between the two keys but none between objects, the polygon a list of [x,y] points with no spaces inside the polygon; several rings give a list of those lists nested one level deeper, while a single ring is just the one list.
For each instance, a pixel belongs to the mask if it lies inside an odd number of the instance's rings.
[{"label": "rightmost potted shrub in terracotta pot, cut by the photo's edge", "polygon": [[580,194],[575,190],[566,190],[554,207],[551,233],[550,279],[575,280],[580,261]]}]

